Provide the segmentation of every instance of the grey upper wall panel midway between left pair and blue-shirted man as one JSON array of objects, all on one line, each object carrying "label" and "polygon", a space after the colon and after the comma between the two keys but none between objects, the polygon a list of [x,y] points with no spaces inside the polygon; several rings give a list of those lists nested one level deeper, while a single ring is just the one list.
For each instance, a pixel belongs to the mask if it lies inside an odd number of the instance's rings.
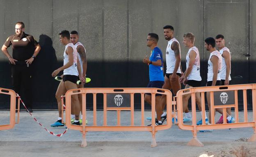
[{"label": "grey upper wall panel midway between left pair and blue-shirted man", "polygon": [[104,1],[104,60],[127,60],[127,0]]}]

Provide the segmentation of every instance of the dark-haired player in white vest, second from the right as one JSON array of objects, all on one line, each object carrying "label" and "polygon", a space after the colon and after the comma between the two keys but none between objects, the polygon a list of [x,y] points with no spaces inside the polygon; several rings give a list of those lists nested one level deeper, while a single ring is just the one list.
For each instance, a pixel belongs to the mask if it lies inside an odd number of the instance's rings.
[{"label": "dark-haired player in white vest, second from the right", "polygon": [[[206,38],[204,40],[204,46],[207,51],[210,51],[210,57],[208,60],[208,73],[207,73],[207,86],[219,86],[221,85],[220,82],[220,71],[222,68],[222,56],[220,55],[219,51],[215,49],[215,39],[214,38]],[[207,103],[209,108],[209,123],[211,123],[211,110],[210,110],[210,92],[206,93],[207,96]],[[221,108],[216,108],[216,111],[218,111],[220,114],[223,115],[223,110]],[[214,111],[213,111],[214,112]],[[227,113],[228,116],[229,113]],[[230,118],[230,123],[234,122],[233,117]],[[214,123],[214,122],[213,122]]]}]

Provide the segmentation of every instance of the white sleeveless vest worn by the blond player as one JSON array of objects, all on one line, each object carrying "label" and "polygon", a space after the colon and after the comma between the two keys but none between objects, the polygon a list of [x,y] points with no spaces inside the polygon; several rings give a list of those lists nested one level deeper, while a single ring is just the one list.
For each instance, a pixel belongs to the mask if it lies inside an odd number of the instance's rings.
[{"label": "white sleeveless vest worn by the blond player", "polygon": [[187,80],[201,81],[202,78],[200,76],[200,57],[199,57],[199,51],[198,51],[196,46],[191,47],[187,52],[186,67],[188,68],[188,65],[189,65],[189,62],[190,62],[189,54],[192,50],[194,50],[197,53],[197,55],[196,55],[196,58],[195,58],[195,62],[192,66],[192,70],[191,70],[190,74],[187,76]]}]

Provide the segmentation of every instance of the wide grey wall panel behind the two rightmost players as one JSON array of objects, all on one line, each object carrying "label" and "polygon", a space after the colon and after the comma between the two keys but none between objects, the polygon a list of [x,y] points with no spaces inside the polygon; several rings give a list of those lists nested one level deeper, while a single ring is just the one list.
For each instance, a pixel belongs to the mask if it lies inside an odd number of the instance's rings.
[{"label": "wide grey wall panel behind the two rightmost players", "polygon": [[[249,52],[249,8],[245,0],[206,0],[204,11],[204,38],[222,34],[231,51],[231,78],[241,75],[241,82],[249,81],[249,62],[245,53]],[[204,51],[205,61],[210,53]],[[237,68],[243,67],[243,71]]]}]

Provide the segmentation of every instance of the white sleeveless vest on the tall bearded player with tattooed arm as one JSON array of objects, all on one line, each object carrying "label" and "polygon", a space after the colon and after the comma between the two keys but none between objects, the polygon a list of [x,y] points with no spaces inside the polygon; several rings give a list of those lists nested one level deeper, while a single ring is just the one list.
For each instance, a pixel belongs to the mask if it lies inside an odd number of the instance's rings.
[{"label": "white sleeveless vest on the tall bearded player with tattooed arm", "polygon": [[[166,73],[173,73],[173,71],[174,71],[174,67],[175,67],[175,63],[176,63],[176,58],[175,58],[174,51],[171,49],[171,44],[174,41],[178,42],[177,39],[172,38],[171,40],[168,41],[168,45],[167,45],[167,48],[166,48]],[[179,47],[181,49],[181,46],[180,46],[179,42],[178,42],[178,44],[179,44]],[[180,65],[181,65],[181,63],[179,64],[177,73],[181,73]]]}]

